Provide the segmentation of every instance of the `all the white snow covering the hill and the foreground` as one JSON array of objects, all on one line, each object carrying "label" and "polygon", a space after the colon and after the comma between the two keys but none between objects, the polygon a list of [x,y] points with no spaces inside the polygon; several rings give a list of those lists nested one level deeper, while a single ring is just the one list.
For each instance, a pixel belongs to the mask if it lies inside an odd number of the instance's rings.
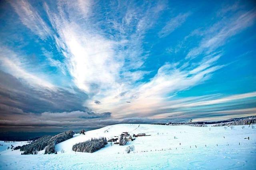
[{"label": "all the white snow covering the hill and the foreground", "polygon": [[[108,143],[94,153],[72,151],[76,143],[94,137],[111,139],[126,131],[130,135],[151,136],[137,137],[125,146]],[[135,150],[127,154],[125,149],[129,145],[134,145]],[[118,124],[87,131],[85,135],[75,134],[72,139],[57,144],[56,150],[58,154],[50,155],[2,151],[0,169],[253,169],[256,129],[248,125],[244,129],[234,126],[225,130],[224,127]]]}]

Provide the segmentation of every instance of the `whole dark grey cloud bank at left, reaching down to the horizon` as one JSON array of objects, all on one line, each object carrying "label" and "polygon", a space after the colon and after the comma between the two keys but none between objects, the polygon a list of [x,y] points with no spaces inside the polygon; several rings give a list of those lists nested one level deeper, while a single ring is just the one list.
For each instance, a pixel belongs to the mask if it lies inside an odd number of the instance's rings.
[{"label": "whole dark grey cloud bank at left, reaching down to the horizon", "polygon": [[[98,128],[117,123],[151,123],[147,118],[112,119],[110,112],[94,113],[84,107],[87,94],[75,88],[34,88],[0,70],[0,127],[2,131],[62,131]],[[2,81],[4,80],[4,81]],[[100,104],[100,101],[95,101]]]}]

